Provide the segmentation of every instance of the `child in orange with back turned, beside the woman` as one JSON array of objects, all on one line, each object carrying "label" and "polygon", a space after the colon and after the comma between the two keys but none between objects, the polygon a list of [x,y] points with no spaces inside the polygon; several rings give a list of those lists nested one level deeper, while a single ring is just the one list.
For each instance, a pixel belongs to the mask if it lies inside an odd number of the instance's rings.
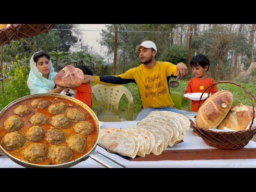
[{"label": "child in orange with back turned, beside the woman", "polygon": [[[88,66],[80,65],[75,67],[81,69],[85,75],[93,75]],[[72,89],[76,90],[76,99],[84,102],[86,105],[88,105],[88,107],[92,108],[92,86],[89,83],[84,83]]]}]

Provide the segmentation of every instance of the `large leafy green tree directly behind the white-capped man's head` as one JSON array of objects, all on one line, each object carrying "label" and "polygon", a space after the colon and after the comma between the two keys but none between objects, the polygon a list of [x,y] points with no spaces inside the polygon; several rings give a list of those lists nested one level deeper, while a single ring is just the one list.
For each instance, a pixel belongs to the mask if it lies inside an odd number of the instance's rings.
[{"label": "large leafy green tree directly behind the white-capped man's head", "polygon": [[[135,52],[135,47],[141,44],[144,40],[152,40],[157,46],[157,57],[160,57],[162,52],[170,48],[173,44],[172,35],[170,33],[150,33],[150,32],[120,32],[120,31],[170,31],[174,29],[174,24],[112,24],[106,26],[107,30],[114,31],[115,26],[118,27],[118,42],[117,42],[117,65],[122,62],[122,66],[137,66],[138,53]],[[172,34],[172,33],[171,33]],[[106,57],[109,59],[114,53],[114,32],[102,30],[100,44],[106,46]],[[127,67],[128,68],[128,67]]]}]

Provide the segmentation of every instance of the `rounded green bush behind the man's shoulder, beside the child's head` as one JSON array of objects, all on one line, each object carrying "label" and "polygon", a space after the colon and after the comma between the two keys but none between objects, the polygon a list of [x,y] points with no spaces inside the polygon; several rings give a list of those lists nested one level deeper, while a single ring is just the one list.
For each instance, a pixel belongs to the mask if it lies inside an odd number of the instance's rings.
[{"label": "rounded green bush behind the man's shoulder, beside the child's head", "polygon": [[167,61],[173,64],[179,62],[188,64],[188,47],[183,45],[173,45],[161,54],[159,61]]}]

